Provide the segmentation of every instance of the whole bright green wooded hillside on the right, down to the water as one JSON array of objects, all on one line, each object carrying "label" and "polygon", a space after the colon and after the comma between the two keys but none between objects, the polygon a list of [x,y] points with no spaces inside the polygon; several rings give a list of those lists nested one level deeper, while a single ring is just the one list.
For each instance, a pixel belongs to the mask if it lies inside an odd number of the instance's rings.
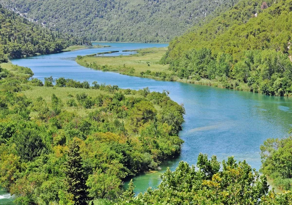
[{"label": "whole bright green wooded hillside on the right, down to the water", "polygon": [[209,85],[290,96],[291,5],[292,0],[240,0],[171,41],[162,63],[190,83],[207,80]]}]

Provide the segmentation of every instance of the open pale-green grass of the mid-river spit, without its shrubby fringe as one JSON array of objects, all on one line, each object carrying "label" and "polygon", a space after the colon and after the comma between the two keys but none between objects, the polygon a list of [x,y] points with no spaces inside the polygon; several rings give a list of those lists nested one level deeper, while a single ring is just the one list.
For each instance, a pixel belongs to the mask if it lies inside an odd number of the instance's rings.
[{"label": "open pale-green grass of the mid-river spit, without its shrubby fringe", "polygon": [[[89,56],[76,59],[76,62],[84,67],[90,67],[95,63],[106,71],[115,71],[121,74],[141,76],[142,71],[171,73],[168,65],[161,65],[159,61],[167,48],[151,48],[139,50],[137,54],[121,56]],[[149,64],[149,66],[148,66]],[[127,73],[128,69],[134,68],[132,73]]]}]

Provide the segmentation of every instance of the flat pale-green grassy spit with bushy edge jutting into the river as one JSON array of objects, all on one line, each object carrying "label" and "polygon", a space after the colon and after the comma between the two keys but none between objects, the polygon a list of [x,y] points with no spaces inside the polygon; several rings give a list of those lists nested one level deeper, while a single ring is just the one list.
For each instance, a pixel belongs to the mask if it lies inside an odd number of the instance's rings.
[{"label": "flat pale-green grassy spit with bushy edge jutting into the river", "polygon": [[120,56],[77,56],[76,62],[84,67],[116,71],[121,74],[157,80],[179,80],[168,65],[161,65],[160,59],[166,48],[138,50],[137,54]]}]

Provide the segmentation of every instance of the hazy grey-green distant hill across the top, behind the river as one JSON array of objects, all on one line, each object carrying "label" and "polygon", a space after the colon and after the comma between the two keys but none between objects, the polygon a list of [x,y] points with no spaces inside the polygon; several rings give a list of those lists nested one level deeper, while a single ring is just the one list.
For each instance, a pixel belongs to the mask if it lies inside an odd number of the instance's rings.
[{"label": "hazy grey-green distant hill across the top, behind the river", "polygon": [[61,32],[98,41],[169,42],[238,0],[1,0]]}]

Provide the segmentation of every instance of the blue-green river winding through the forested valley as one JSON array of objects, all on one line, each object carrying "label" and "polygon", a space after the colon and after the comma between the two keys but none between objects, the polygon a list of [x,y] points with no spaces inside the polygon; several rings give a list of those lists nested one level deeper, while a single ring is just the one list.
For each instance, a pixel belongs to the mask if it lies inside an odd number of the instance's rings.
[{"label": "blue-green river winding through the forested valley", "polygon": [[[169,90],[169,96],[174,101],[184,104],[186,115],[183,131],[180,132],[180,137],[184,140],[181,155],[165,162],[161,171],[136,176],[136,192],[144,192],[148,187],[157,187],[160,183],[159,176],[166,167],[175,170],[182,160],[196,164],[199,153],[209,156],[216,154],[219,161],[227,159],[228,156],[235,156],[237,160],[246,160],[253,168],[259,170],[259,146],[269,137],[287,136],[292,127],[292,99],[286,97],[265,96],[205,85],[155,81],[84,68],[74,61],[77,55],[167,46],[143,43],[103,44],[112,47],[16,59],[12,63],[31,68],[35,73],[34,77],[41,80],[52,75],[54,78],[97,81],[121,88],[149,87],[151,91]],[[130,52],[111,55],[121,53]]]}]

